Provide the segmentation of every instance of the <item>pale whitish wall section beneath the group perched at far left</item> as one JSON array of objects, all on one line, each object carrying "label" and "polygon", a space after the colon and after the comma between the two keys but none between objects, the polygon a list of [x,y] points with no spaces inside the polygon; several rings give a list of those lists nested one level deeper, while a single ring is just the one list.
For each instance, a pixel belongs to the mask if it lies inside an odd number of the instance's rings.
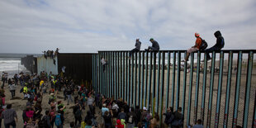
[{"label": "pale whitish wall section beneath the group perched at far left", "polygon": [[54,59],[50,57],[47,57],[47,59],[45,59],[44,56],[37,57],[37,73],[45,71],[48,74],[50,72],[52,72],[53,74],[58,74],[58,59],[57,57],[55,57]]}]

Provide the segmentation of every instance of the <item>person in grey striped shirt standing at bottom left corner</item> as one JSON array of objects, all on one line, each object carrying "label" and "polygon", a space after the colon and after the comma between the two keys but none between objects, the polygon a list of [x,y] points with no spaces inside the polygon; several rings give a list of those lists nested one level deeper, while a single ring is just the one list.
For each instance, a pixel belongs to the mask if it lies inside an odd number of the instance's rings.
[{"label": "person in grey striped shirt standing at bottom left corner", "polygon": [[16,123],[18,121],[17,118],[17,112],[12,108],[12,104],[7,105],[7,110],[2,111],[1,118],[4,119],[4,126],[6,128],[9,128],[12,126],[12,128],[16,128]]}]

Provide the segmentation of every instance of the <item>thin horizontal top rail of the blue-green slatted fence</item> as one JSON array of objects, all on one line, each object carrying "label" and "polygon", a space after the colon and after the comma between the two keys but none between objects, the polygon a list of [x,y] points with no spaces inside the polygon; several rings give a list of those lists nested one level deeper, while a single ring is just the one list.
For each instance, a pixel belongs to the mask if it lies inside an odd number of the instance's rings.
[{"label": "thin horizontal top rail of the blue-green slatted fence", "polygon": [[[99,50],[98,52],[129,52],[130,50]],[[158,52],[185,52],[187,50],[159,50]],[[242,51],[242,53],[249,53],[251,51],[253,51],[254,53],[256,53],[256,50],[218,50],[216,51],[216,53],[220,53],[220,51],[223,51],[224,53],[229,53],[230,51],[232,51],[233,53],[239,53],[240,51]],[[146,52],[145,50],[140,50],[140,52]],[[150,52],[150,51],[149,51]],[[152,51],[154,52],[154,51]],[[201,53],[204,53],[205,51],[200,51]]]}]

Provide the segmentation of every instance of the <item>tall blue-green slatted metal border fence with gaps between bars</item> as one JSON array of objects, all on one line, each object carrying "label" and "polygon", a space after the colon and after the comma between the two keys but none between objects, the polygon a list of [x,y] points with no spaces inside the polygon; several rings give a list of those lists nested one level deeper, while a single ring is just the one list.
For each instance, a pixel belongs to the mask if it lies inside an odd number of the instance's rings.
[{"label": "tall blue-green slatted metal border fence with gaps between bars", "polygon": [[[92,86],[106,97],[147,107],[153,116],[183,108],[184,126],[256,127],[256,50],[221,50],[206,61],[186,50],[99,51],[92,55]],[[101,58],[107,59],[102,70]]]}]

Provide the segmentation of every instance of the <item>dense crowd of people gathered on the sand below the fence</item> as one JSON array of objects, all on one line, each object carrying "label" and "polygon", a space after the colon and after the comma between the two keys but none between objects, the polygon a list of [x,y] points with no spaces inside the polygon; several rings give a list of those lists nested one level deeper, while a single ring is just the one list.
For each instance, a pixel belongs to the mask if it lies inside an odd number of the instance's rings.
[{"label": "dense crowd of people gathered on the sand below the fence", "polygon": [[[168,107],[164,113],[164,125],[161,124],[159,114],[154,116],[147,107],[130,107],[122,98],[105,97],[97,93],[91,86],[76,84],[73,79],[52,73],[41,72],[37,74],[15,74],[10,78],[8,88],[15,98],[17,87],[20,86],[22,100],[26,100],[26,109],[22,112],[24,128],[63,128],[69,127],[102,127],[102,128],[133,128],[133,127],[181,127],[183,126],[182,108],[173,111]],[[5,81],[4,81],[5,82]],[[4,84],[0,90],[1,122],[6,128],[17,126],[17,111],[12,104],[5,103]],[[59,95],[64,97],[64,101]],[[47,95],[48,107],[43,110],[43,96]],[[58,96],[58,97],[57,97]],[[47,98],[46,97],[46,98]],[[44,97],[45,98],[45,97]],[[67,102],[65,102],[67,100]],[[70,106],[69,106],[70,105]],[[67,107],[69,106],[69,108]],[[66,122],[65,111],[73,109],[73,118],[69,124]],[[86,115],[83,115],[83,112]],[[1,124],[0,124],[1,127]]]}]

